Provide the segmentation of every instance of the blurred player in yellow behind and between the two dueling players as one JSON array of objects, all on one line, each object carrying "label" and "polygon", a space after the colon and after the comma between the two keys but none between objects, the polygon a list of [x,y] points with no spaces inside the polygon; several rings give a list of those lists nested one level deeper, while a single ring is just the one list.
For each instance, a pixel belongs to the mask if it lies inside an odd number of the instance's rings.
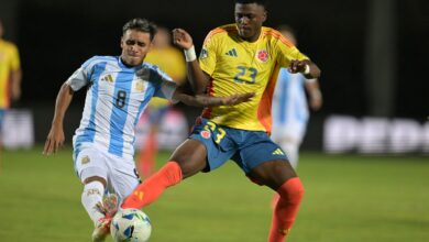
[{"label": "blurred player in yellow behind and between the two dueling players", "polygon": [[[158,66],[174,81],[182,86],[186,82],[186,65],[183,53],[172,45],[172,35],[166,28],[158,28],[153,42],[153,48],[147,54],[145,62]],[[155,167],[158,151],[158,132],[162,119],[172,108],[166,99],[153,98],[143,114],[143,119],[150,123],[150,131],[143,146],[140,150],[139,172],[143,177],[152,174]]]}]

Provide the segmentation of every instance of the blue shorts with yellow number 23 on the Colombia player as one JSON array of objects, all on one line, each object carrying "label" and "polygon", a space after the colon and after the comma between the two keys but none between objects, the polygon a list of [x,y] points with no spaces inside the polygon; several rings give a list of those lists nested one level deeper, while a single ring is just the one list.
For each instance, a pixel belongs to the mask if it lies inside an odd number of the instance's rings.
[{"label": "blue shorts with yellow number 23 on the Colombia player", "polygon": [[205,172],[218,168],[228,160],[234,161],[245,174],[264,162],[287,162],[282,147],[263,131],[238,130],[201,119],[194,127],[190,138],[200,141],[207,148],[208,167]]}]

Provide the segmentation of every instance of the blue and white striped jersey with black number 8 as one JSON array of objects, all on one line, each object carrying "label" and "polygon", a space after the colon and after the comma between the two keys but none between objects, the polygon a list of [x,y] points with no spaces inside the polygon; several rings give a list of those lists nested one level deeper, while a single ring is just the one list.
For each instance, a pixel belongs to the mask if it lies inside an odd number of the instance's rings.
[{"label": "blue and white striped jersey with black number 8", "polygon": [[92,146],[133,158],[134,127],[152,97],[172,100],[176,84],[156,66],[125,66],[119,56],[95,56],[67,80],[73,90],[88,86],[75,155]]}]

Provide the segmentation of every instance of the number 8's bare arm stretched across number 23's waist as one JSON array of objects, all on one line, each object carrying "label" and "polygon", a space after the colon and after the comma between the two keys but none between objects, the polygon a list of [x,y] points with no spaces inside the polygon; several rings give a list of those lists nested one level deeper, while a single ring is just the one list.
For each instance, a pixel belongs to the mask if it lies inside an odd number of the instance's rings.
[{"label": "number 8's bare arm stretched across number 23's waist", "polygon": [[207,95],[189,96],[179,91],[176,91],[173,96],[175,100],[182,101],[187,106],[195,107],[213,107],[213,106],[235,106],[241,102],[250,101],[254,97],[254,92],[245,92],[239,95],[232,95],[229,97],[209,97]]}]

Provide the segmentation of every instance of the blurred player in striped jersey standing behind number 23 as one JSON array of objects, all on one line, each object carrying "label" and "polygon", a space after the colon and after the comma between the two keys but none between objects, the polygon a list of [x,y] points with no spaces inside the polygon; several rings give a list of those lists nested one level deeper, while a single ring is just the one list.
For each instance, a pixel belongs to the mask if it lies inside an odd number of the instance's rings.
[{"label": "blurred player in striped jersey standing behind number 23", "polygon": [[[297,45],[296,35],[292,28],[280,25],[277,30],[294,45]],[[306,89],[309,103],[307,103]],[[294,168],[298,165],[299,146],[309,119],[308,105],[315,111],[322,106],[319,81],[306,79],[301,74],[292,74],[286,68],[282,68],[272,106],[272,139],[286,152]]]}]

